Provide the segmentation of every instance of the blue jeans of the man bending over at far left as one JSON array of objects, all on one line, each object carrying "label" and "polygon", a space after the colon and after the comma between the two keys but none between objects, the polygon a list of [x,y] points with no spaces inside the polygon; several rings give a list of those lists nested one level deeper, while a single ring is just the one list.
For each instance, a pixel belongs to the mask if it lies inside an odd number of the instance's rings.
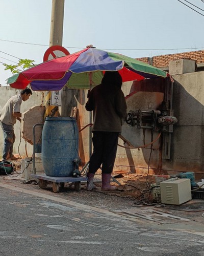
[{"label": "blue jeans of the man bending over at far left", "polygon": [[3,146],[3,161],[8,159],[9,157],[13,156],[13,144],[15,142],[15,134],[13,130],[13,125],[8,125],[6,123],[2,123],[2,130],[4,133],[4,146]]}]

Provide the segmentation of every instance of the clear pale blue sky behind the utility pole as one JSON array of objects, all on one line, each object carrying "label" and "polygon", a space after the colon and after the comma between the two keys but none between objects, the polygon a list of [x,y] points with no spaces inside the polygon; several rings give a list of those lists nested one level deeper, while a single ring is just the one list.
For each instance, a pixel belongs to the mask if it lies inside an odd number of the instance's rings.
[{"label": "clear pale blue sky behind the utility pole", "polygon": [[[181,2],[65,0],[63,47],[74,53],[92,44],[133,58],[203,50],[204,1]],[[49,47],[52,0],[0,0],[0,10],[0,84],[4,86],[12,74],[2,62],[43,61]]]}]

